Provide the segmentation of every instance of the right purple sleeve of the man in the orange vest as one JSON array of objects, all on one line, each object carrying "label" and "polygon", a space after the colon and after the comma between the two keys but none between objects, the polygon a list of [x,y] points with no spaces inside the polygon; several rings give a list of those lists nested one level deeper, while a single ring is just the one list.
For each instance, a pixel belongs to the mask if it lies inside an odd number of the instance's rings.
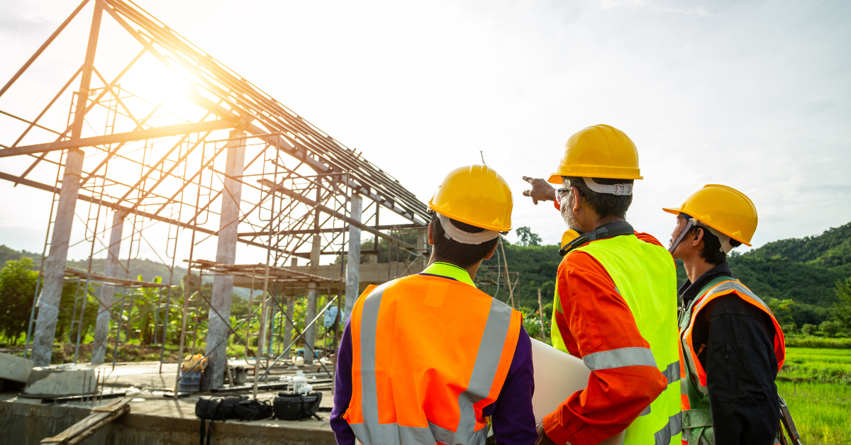
[{"label": "right purple sleeve of the man in the orange vest", "polygon": [[526,329],[521,327],[514,358],[511,359],[511,367],[508,368],[500,396],[496,398],[496,402],[482,410],[484,415],[491,416],[497,443],[531,445],[538,439],[532,412],[532,394],[532,341],[529,340]]}]

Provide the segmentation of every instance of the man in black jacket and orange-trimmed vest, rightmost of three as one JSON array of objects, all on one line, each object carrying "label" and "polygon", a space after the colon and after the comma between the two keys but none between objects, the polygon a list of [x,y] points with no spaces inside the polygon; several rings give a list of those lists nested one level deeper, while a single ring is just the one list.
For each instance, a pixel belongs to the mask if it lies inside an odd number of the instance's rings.
[{"label": "man in black jacket and orange-trimmed vest, rightmost of three", "polygon": [[730,270],[730,249],[757,230],[744,193],[706,185],[678,208],[671,254],[683,260],[683,443],[770,444],[780,425],[774,378],[783,366],[780,324]]}]

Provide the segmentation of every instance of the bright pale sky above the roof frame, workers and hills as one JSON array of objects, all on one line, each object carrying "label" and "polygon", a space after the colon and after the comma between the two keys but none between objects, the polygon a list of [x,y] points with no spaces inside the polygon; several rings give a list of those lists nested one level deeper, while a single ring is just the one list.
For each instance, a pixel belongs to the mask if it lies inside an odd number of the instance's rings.
[{"label": "bright pale sky above the roof frame, workers and hills", "polygon": [[[521,196],[521,177],[550,174],[570,134],[596,123],[635,141],[645,179],[627,219],[665,244],[660,208],[710,183],[756,203],[756,246],[851,220],[848,2],[140,6],[424,201],[481,149],[515,193],[514,226],[545,242],[563,222]],[[0,3],[0,83],[75,7]],[[68,31],[84,37],[90,14]],[[0,243],[40,251],[49,193],[24,188],[0,181]]]}]

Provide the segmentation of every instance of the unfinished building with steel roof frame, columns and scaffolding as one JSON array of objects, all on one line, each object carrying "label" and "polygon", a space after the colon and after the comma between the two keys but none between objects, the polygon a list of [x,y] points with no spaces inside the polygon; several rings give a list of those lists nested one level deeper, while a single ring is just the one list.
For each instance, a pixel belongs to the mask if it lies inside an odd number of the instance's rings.
[{"label": "unfinished building with steel roof frame, columns and scaffolding", "polygon": [[[33,90],[33,67],[49,65],[49,48],[67,26],[89,20],[84,60],[54,90]],[[19,109],[25,97],[37,112]],[[180,372],[183,357],[196,354],[207,363],[200,391],[263,398],[296,371],[330,390],[333,357],[313,351],[317,326],[334,351],[338,327],[367,284],[425,265],[429,216],[420,199],[132,2],[84,0],[0,89],[0,122],[0,179],[52,197],[49,220],[33,221],[47,232],[26,357],[50,366],[60,316],[70,317],[75,346],[72,363],[39,371],[45,382],[56,379],[53,390],[3,393],[0,417],[12,425],[4,430],[21,443],[49,436],[76,443],[92,433],[86,443],[196,441],[197,397],[183,397],[188,373]],[[362,249],[362,237],[373,247]],[[68,267],[69,248],[85,248],[88,266]],[[143,255],[168,276],[132,276]],[[69,285],[76,286],[70,306],[61,301]],[[247,289],[247,316],[231,317],[235,288]],[[156,300],[144,311],[134,300],[143,290]],[[137,335],[129,323],[143,312],[155,320],[159,360],[117,363],[119,345]],[[93,319],[89,364],[78,352]],[[177,363],[163,356],[171,339],[179,339]],[[229,344],[242,357],[229,360]],[[294,347],[303,357],[291,356]],[[128,398],[89,412],[121,396]],[[89,427],[103,425],[129,406],[99,432],[60,434],[86,415]],[[324,417],[225,424],[216,437],[333,442]]]}]

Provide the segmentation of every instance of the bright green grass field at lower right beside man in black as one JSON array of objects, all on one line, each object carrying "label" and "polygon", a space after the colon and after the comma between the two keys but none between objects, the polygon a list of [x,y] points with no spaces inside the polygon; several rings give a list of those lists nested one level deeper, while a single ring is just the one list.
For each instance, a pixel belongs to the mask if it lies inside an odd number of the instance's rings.
[{"label": "bright green grass field at lower right beside man in black", "polygon": [[851,443],[851,350],[786,348],[777,388],[802,442]]}]

